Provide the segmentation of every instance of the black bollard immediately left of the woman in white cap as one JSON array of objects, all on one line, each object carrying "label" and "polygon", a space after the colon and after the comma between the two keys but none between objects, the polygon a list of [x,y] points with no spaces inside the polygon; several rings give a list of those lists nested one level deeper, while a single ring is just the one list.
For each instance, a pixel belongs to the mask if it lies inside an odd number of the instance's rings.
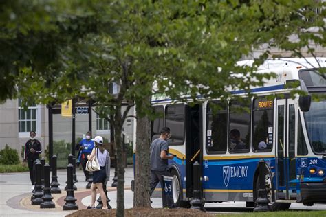
[{"label": "black bollard immediately left of the woman in white cap", "polygon": [[65,198],[65,205],[63,205],[63,210],[77,210],[78,205],[76,205],[77,199],[74,196],[74,166],[69,163],[67,166],[67,196]]}]

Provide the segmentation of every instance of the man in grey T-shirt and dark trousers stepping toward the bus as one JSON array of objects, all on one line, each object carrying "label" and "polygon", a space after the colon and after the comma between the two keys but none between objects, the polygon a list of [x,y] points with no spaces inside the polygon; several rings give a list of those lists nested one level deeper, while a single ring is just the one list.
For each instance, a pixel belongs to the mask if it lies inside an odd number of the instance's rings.
[{"label": "man in grey T-shirt and dark trousers stepping toward the bus", "polygon": [[[155,139],[151,144],[151,194],[162,179],[161,176],[171,176],[168,167],[168,159],[173,159],[175,155],[168,155],[169,146],[167,140],[171,137],[168,127],[162,128],[160,138]],[[167,205],[174,207],[172,196],[166,196]]]}]

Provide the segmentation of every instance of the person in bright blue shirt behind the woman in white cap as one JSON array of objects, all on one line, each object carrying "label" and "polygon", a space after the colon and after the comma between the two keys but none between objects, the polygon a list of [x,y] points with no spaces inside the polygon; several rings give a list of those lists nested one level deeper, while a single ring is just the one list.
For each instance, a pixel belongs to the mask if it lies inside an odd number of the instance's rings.
[{"label": "person in bright blue shirt behind the woman in white cap", "polygon": [[80,150],[77,164],[80,162],[82,165],[85,174],[85,181],[87,181],[89,178],[89,172],[85,169],[87,163],[87,155],[91,154],[91,150],[93,150],[94,147],[94,141],[91,140],[91,131],[86,133],[85,139],[82,139],[76,147],[76,149]]}]

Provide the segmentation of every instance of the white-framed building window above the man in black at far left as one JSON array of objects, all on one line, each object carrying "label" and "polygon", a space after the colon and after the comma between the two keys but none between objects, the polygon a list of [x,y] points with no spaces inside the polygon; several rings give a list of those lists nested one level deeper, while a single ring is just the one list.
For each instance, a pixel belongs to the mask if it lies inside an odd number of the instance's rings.
[{"label": "white-framed building window above the man in black at far left", "polygon": [[26,133],[36,131],[36,111],[37,106],[34,103],[27,104],[27,109],[23,108],[21,99],[18,101],[18,131]]}]

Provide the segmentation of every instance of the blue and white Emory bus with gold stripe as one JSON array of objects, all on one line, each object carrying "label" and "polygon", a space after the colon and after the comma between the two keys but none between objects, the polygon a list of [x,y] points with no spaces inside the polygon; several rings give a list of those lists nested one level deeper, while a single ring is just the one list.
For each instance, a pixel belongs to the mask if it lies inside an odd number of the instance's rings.
[{"label": "blue and white Emory bus with gold stripe", "polygon": [[[152,139],[168,126],[169,153],[177,155],[169,160],[175,204],[191,200],[193,163],[198,161],[205,203],[246,201],[254,206],[259,159],[266,163],[271,210],[287,209],[291,203],[326,203],[326,100],[292,99],[285,88],[287,82],[301,81],[301,89],[322,97],[326,79],[317,72],[319,67],[326,67],[326,58],[266,60],[257,72],[274,72],[276,78],[253,87],[254,98],[233,92],[249,103],[230,98],[189,106],[164,96],[153,98],[155,111],[164,117],[153,121]],[[213,112],[213,104],[221,109]],[[247,109],[235,112],[239,107]]]}]

